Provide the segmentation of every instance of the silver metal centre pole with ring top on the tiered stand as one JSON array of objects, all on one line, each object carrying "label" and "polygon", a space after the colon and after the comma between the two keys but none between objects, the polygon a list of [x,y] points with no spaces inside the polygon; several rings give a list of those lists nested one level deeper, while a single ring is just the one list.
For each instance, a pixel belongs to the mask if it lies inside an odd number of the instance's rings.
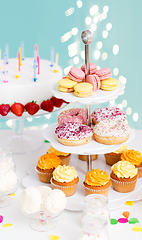
[{"label": "silver metal centre pole with ring top on the tiered stand", "polygon": [[[85,44],[85,78],[90,74],[90,46],[89,44],[93,41],[93,35],[89,30],[83,31],[81,34],[82,42]],[[86,105],[86,124],[91,126],[91,114],[90,105]],[[91,156],[87,155],[87,168],[88,171],[92,170]]]}]

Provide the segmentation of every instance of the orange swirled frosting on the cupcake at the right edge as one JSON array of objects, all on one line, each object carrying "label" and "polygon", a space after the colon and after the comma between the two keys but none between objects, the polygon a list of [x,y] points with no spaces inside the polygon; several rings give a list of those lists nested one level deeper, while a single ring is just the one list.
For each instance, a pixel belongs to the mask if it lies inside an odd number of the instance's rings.
[{"label": "orange swirled frosting on the cupcake at the right edge", "polygon": [[121,155],[121,160],[128,161],[136,166],[142,163],[142,155],[139,151],[134,151],[133,149],[127,150]]}]

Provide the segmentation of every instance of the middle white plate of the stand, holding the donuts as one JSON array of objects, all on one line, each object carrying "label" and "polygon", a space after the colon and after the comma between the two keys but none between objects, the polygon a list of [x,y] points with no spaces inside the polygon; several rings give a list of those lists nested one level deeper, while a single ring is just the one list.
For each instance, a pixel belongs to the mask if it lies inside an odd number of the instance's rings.
[{"label": "middle white plate of the stand, holding the donuts", "polygon": [[[109,153],[113,152],[116,149],[118,149],[121,144],[116,144],[116,145],[105,145],[105,144],[100,144],[96,142],[94,139],[92,139],[89,143],[83,144],[80,146],[65,146],[57,141],[56,134],[55,134],[55,129],[58,125],[54,124],[52,126],[49,126],[43,130],[43,136],[45,139],[49,140],[51,142],[51,145],[57,149],[58,151],[62,152],[69,152],[69,153],[79,153],[79,154],[103,154],[103,153]],[[129,139],[126,141],[128,143],[129,141],[132,141],[133,138],[135,137],[135,132],[133,129],[131,129]]]}]

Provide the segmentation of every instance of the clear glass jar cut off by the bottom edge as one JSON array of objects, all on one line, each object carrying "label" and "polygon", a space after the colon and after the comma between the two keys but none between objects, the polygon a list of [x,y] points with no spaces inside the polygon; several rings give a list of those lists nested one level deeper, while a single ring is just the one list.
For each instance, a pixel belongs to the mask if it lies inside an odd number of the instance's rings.
[{"label": "clear glass jar cut off by the bottom edge", "polygon": [[83,216],[81,223],[83,235],[80,240],[109,240],[106,217],[87,214]]}]

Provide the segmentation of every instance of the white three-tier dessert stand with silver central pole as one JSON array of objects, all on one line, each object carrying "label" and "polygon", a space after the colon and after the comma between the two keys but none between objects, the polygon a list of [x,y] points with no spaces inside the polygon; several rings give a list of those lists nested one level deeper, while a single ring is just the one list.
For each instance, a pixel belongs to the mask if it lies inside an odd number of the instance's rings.
[{"label": "white three-tier dessert stand with silver central pole", "polygon": [[[90,35],[90,32],[87,30],[82,33],[82,40],[85,44],[85,63],[86,63],[86,69],[87,74],[89,74],[89,43],[92,41],[92,36]],[[51,91],[53,94],[58,98],[63,98],[65,101],[71,102],[71,103],[79,103],[84,104],[86,108],[86,118],[87,118],[87,124],[90,125],[90,105],[91,104],[100,104],[104,102],[108,102],[110,100],[116,99],[119,95],[122,95],[124,93],[125,86],[121,83],[119,83],[119,86],[116,90],[113,91],[103,91],[103,90],[97,90],[95,91],[92,96],[87,98],[79,98],[74,95],[74,93],[62,93],[58,91],[58,84],[54,84]],[[83,181],[85,179],[85,174],[91,170],[92,168],[99,168],[104,171],[107,171],[108,174],[111,172],[110,166],[108,166],[105,163],[104,154],[109,153],[112,151],[117,150],[120,145],[104,145],[96,142],[94,139],[92,139],[89,143],[80,145],[80,146],[65,146],[60,144],[55,135],[55,129],[58,125],[52,125],[50,127],[47,127],[44,132],[44,138],[49,140],[51,145],[62,152],[68,152],[72,153],[70,165],[73,165],[75,169],[78,172],[79,175],[79,183],[77,186],[76,193],[68,197],[67,201],[67,207],[66,209],[72,210],[72,211],[80,211],[84,208],[84,197],[85,197],[85,190],[83,187]],[[134,130],[131,130],[130,137],[127,140],[126,143],[131,141],[135,136]],[[87,163],[85,161],[81,161],[78,159],[78,154],[80,155],[87,155]],[[98,159],[95,161],[91,161],[90,155],[93,154],[99,154]],[[31,176],[30,176],[31,175]],[[34,180],[33,180],[34,179]],[[25,187],[28,187],[30,185],[30,180],[34,182],[35,185],[39,185],[38,177],[35,173],[33,173],[33,166],[31,169],[29,169],[29,176],[27,178],[23,179],[23,185]],[[31,182],[32,183],[32,182]],[[131,193],[118,193],[110,188],[109,191],[109,209],[115,209],[117,207],[120,207],[123,205],[126,200],[138,200],[140,195],[140,190],[142,187],[142,179],[138,180],[138,183],[136,185],[136,188]]]}]

